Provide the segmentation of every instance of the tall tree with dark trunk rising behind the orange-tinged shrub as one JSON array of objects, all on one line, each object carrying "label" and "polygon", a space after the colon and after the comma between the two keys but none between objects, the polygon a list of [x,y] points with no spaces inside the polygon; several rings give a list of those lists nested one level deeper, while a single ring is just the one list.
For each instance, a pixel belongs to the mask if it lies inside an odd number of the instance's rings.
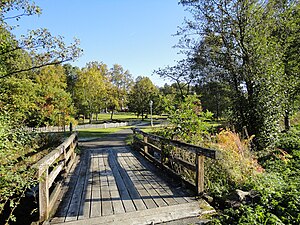
[{"label": "tall tree with dark trunk rising behind the orange-tinged shrub", "polygon": [[283,52],[273,35],[274,2],[181,1],[194,18],[179,31],[181,46],[190,47],[196,64],[203,63],[211,76],[229,85],[233,122],[238,130],[246,127],[255,135],[258,149],[275,141],[283,96]]}]

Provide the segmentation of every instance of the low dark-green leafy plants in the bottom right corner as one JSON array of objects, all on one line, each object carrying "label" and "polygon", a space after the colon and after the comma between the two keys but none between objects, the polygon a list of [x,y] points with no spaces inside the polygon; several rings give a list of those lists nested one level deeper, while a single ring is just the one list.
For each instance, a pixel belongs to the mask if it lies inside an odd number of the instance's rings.
[{"label": "low dark-green leafy plants in the bottom right corner", "polygon": [[300,150],[293,135],[297,133],[283,134],[279,142],[289,154],[280,149],[270,151],[259,159],[265,172],[238,186],[251,188],[257,197],[240,207],[225,208],[211,224],[300,223]]}]

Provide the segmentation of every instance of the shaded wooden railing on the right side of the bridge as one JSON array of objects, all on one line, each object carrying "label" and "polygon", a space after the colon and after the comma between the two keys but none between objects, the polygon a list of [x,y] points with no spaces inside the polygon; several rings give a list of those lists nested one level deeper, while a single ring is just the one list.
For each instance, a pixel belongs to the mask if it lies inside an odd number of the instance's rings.
[{"label": "shaded wooden railing on the right side of the bridge", "polygon": [[[216,151],[211,149],[202,148],[199,146],[183,143],[176,140],[166,139],[161,136],[145,133],[138,128],[133,128],[133,146],[135,149],[139,150],[145,157],[150,159],[153,163],[159,165],[163,169],[166,169],[182,178],[181,174],[177,173],[170,167],[171,164],[178,164],[184,168],[194,171],[196,173],[195,181],[190,183],[186,182],[196,187],[197,194],[204,192],[204,158],[209,157],[216,159]],[[138,137],[138,134],[142,135],[142,139]],[[151,143],[152,142],[152,143]],[[159,143],[161,147],[153,144],[153,142]],[[165,151],[167,146],[173,146],[179,149],[183,149],[195,157],[195,163],[188,162],[187,160],[172,156],[170,152]]]}]

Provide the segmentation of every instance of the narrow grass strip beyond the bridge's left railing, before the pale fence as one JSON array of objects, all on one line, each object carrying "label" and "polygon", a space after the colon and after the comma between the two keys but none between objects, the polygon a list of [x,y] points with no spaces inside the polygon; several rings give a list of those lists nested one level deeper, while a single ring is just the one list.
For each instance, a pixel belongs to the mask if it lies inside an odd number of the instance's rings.
[{"label": "narrow grass strip beyond the bridge's left railing, before the pale fence", "polygon": [[78,136],[79,138],[89,138],[89,137],[104,137],[105,135],[115,133],[117,131],[128,129],[130,126],[127,127],[114,127],[114,128],[93,128],[93,129],[78,129]]}]

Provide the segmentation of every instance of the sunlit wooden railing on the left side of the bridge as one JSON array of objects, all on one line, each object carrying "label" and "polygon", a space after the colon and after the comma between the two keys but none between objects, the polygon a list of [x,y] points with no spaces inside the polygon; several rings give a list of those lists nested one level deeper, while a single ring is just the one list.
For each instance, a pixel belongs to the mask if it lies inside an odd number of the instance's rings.
[{"label": "sunlit wooden railing on the left side of the bridge", "polygon": [[40,221],[48,219],[52,213],[61,191],[63,178],[66,177],[75,161],[74,150],[77,142],[77,133],[74,133],[34,165],[39,180]]}]

